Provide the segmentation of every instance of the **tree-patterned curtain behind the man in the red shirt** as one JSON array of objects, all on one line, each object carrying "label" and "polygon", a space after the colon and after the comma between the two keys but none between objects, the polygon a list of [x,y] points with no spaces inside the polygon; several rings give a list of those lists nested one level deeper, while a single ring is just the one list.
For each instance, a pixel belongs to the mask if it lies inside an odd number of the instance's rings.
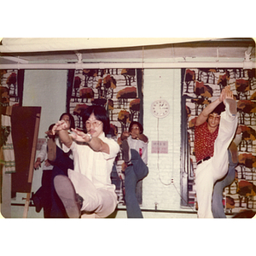
[{"label": "tree-patterned curtain behind the man in the red shirt", "polygon": [[186,69],[183,70],[183,102],[187,112],[189,158],[188,201],[195,207],[194,172],[194,130],[196,116],[210,102],[215,101],[220,91],[230,85],[236,96],[238,125],[241,125],[242,139],[238,146],[239,162],[235,181],[224,189],[225,212],[241,212],[256,209],[256,78],[255,69]]}]

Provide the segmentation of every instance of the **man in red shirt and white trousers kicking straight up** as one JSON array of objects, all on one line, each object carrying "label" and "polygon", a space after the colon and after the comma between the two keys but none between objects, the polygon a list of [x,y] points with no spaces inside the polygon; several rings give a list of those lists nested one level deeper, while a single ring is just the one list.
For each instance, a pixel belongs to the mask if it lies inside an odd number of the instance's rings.
[{"label": "man in red shirt and white trousers kicking straight up", "polygon": [[213,184],[228,172],[228,148],[237,127],[236,101],[230,86],[195,121],[195,189],[198,218],[213,218]]}]

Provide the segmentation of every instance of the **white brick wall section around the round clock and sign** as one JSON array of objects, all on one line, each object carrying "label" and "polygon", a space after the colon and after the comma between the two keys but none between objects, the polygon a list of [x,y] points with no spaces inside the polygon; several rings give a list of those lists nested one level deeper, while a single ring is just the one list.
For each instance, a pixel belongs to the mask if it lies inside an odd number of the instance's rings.
[{"label": "white brick wall section around the round clock and sign", "polygon": [[[143,181],[143,207],[180,209],[180,84],[179,69],[146,69],[144,71],[144,132],[149,138],[149,174]],[[150,113],[152,102],[169,102],[171,112],[164,119]],[[152,154],[152,141],[168,142],[168,154]],[[177,190],[176,190],[177,189]],[[178,191],[178,192],[177,192]]]}]

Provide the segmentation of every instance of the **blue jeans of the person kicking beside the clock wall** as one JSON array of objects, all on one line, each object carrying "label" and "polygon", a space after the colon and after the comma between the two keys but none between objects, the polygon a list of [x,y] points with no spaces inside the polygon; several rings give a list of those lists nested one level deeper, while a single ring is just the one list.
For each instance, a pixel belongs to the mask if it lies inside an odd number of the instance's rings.
[{"label": "blue jeans of the person kicking beside the clock wall", "polygon": [[131,149],[131,166],[125,170],[125,204],[127,218],[143,218],[143,213],[139,207],[136,187],[137,183],[148,175],[146,166],[135,149]]}]

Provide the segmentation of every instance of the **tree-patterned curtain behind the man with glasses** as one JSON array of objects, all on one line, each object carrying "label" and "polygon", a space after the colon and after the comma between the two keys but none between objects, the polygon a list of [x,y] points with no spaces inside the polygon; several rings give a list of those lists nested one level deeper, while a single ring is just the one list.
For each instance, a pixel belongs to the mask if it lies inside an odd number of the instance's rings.
[{"label": "tree-patterned curtain behind the man with glasses", "polygon": [[[143,124],[143,93],[141,69],[83,69],[69,70],[67,75],[67,112],[72,113],[76,127],[84,129],[81,113],[90,105],[108,110],[110,133],[120,144],[120,135],[131,121]],[[116,158],[112,181],[119,201],[124,202],[124,160],[121,150]],[[123,170],[124,171],[124,170]],[[141,186],[137,197],[142,201]]]}]

